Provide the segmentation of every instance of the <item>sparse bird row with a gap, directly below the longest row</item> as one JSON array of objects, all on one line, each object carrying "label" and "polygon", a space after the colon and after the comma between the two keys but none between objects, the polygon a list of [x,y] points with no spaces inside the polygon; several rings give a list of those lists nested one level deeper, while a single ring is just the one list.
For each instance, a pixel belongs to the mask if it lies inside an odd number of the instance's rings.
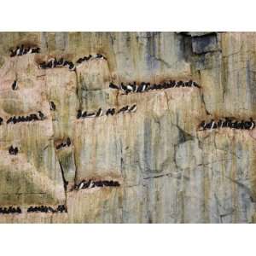
[{"label": "sparse bird row with a gap, directly below the longest row", "polygon": [[[117,114],[117,113],[134,113],[137,110],[137,105],[134,104],[131,107],[129,105],[126,105],[123,108],[120,108],[118,111],[115,110],[115,108],[108,108],[108,110],[105,112],[105,114],[108,116],[109,114]],[[103,115],[102,108],[99,108],[96,112],[93,113],[87,113],[87,111],[82,112],[81,109],[78,111],[77,118],[78,119],[85,119],[85,118],[95,118],[100,117]]]}]

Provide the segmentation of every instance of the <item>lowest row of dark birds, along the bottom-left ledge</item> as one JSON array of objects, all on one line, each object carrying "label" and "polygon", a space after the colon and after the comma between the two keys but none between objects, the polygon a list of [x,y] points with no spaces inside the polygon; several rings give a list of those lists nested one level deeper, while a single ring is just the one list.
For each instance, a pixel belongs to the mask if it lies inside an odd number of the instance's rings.
[{"label": "lowest row of dark birds, along the bottom-left ledge", "polygon": [[[67,212],[67,207],[64,205],[58,206],[56,209],[52,207],[29,207],[26,212]],[[20,207],[0,207],[0,213],[2,214],[15,214],[22,213]]]}]

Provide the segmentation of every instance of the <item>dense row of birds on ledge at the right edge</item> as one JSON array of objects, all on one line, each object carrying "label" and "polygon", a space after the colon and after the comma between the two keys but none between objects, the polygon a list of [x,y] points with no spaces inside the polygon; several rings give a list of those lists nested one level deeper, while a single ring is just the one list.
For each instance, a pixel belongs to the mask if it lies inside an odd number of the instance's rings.
[{"label": "dense row of birds on ledge at the right edge", "polygon": [[223,119],[218,119],[218,120],[214,120],[211,119],[210,122],[206,122],[206,121],[202,121],[201,124],[199,125],[200,130],[207,130],[207,129],[217,129],[217,128],[232,128],[232,129],[241,129],[241,130],[253,130],[253,128],[255,127],[255,122],[253,121],[252,118],[250,118],[249,120],[245,121],[245,120],[241,120],[241,121],[237,121],[237,120],[233,120],[231,118],[224,118]]}]

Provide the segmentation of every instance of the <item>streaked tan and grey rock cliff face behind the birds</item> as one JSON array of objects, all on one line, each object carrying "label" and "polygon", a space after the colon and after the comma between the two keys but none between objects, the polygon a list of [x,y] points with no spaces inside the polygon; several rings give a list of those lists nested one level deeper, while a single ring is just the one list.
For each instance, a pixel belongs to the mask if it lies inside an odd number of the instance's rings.
[{"label": "streaked tan and grey rock cliff face behind the birds", "polygon": [[[256,131],[200,131],[202,120],[256,119],[252,32],[1,32],[1,223],[252,223]],[[17,45],[39,54],[10,57]],[[39,69],[52,57],[75,63]],[[124,95],[109,83],[200,84]],[[17,81],[17,90],[12,84]],[[55,111],[49,102],[55,103]],[[78,110],[134,113],[77,119]],[[12,116],[44,113],[32,122]],[[56,149],[70,138],[71,145]],[[9,154],[9,147],[19,149]],[[75,189],[83,180],[119,186]],[[59,205],[67,212],[26,212]]]}]

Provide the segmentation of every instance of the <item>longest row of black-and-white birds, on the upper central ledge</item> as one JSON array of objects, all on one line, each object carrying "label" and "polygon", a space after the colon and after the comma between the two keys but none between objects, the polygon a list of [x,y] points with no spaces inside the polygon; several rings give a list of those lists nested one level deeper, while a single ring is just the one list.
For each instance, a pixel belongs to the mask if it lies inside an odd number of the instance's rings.
[{"label": "longest row of black-and-white birds, on the upper central ledge", "polygon": [[133,82],[133,84],[124,84],[121,83],[120,85],[113,84],[112,82],[109,84],[109,88],[115,89],[115,90],[122,90],[125,94],[129,94],[132,92],[144,92],[148,90],[162,90],[162,89],[168,89],[168,88],[175,88],[175,87],[198,87],[201,86],[197,84],[195,81],[189,80],[189,81],[175,81],[170,80],[169,82],[164,82],[163,84],[150,84],[142,82],[141,84],[137,84],[136,82]]}]

